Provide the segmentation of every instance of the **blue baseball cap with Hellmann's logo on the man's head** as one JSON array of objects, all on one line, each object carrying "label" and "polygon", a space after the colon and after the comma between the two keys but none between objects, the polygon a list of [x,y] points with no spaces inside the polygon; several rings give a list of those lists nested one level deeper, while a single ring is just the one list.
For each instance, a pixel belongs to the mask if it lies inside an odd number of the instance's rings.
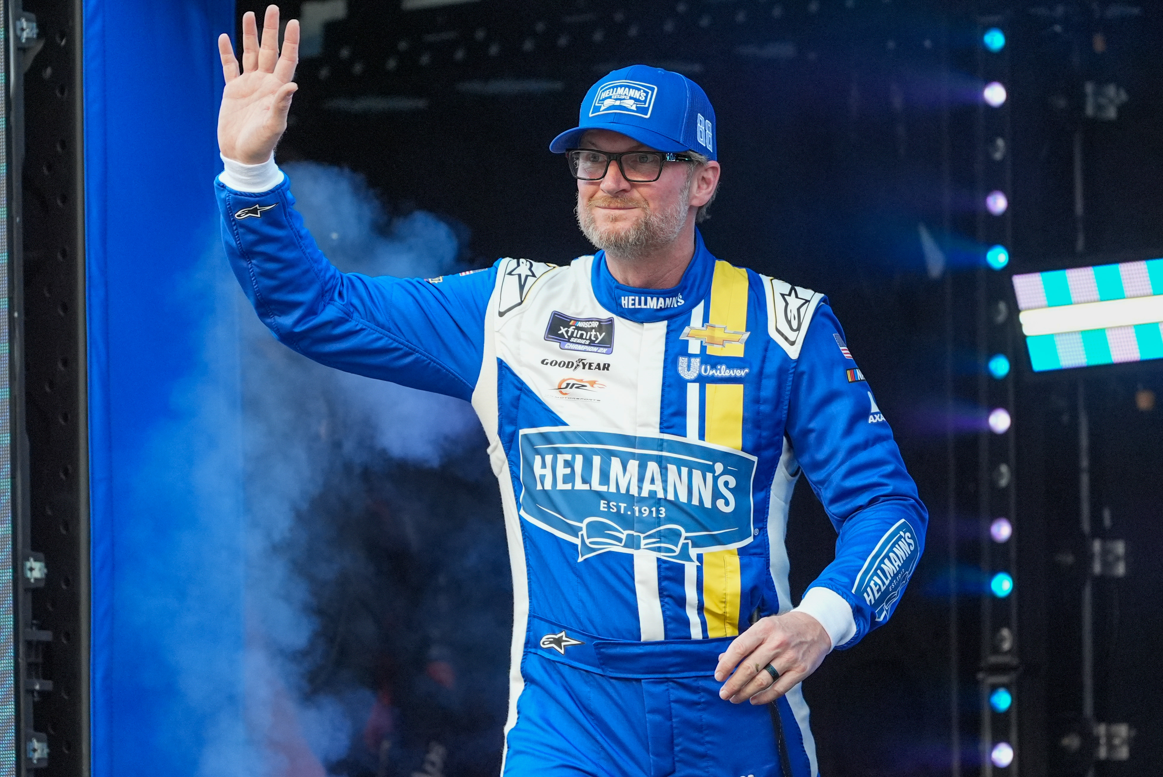
[{"label": "blue baseball cap with Hellmann's logo on the man's head", "polygon": [[680,73],[630,65],[590,87],[578,125],[554,138],[549,150],[576,149],[586,130],[607,129],[658,151],[698,151],[714,159],[715,111],[702,88]]}]

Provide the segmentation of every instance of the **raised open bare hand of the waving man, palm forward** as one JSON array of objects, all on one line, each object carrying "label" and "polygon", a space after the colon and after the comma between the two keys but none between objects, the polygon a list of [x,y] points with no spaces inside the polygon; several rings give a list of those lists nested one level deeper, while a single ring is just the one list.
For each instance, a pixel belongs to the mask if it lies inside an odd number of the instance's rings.
[{"label": "raised open bare hand of the waving man, palm forward", "polygon": [[258,44],[255,14],[242,17],[242,74],[230,36],[219,36],[226,89],[219,110],[219,151],[227,159],[259,165],[271,158],[287,129],[291,96],[299,87],[291,79],[299,63],[299,22],[287,22],[279,56],[279,8],[267,6],[263,44]]}]

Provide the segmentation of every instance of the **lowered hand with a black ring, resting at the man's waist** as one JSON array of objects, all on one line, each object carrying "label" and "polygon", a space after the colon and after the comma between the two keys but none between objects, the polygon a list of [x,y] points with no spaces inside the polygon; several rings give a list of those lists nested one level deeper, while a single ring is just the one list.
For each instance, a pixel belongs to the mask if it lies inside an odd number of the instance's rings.
[{"label": "lowered hand with a black ring, resting at the man's waist", "polygon": [[[815,671],[830,650],[828,632],[806,612],[761,618],[719,656],[715,679],[727,681],[719,698],[732,704],[745,699],[751,704],[775,702]],[[779,679],[771,677],[769,663],[779,672]]]}]

